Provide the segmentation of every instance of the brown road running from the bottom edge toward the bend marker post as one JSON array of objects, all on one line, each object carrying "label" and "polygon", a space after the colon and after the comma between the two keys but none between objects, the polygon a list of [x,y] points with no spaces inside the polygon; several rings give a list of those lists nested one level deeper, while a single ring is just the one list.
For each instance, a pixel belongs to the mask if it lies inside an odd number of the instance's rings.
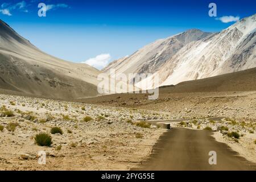
[{"label": "brown road running from the bottom edge toward the bend marker post", "polygon": [[[237,156],[210,131],[174,128],[160,137],[150,158],[139,170],[256,170],[256,165]],[[217,164],[209,164],[209,152],[216,151]]]}]

